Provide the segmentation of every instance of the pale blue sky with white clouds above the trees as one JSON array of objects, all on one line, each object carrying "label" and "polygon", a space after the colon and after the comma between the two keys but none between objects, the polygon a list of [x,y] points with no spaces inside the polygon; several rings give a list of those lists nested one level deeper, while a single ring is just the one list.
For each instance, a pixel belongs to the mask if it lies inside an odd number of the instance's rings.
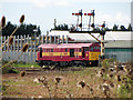
[{"label": "pale blue sky with white clouds above the trees", "polygon": [[[6,16],[7,21],[19,24],[21,14],[25,16],[25,23],[40,26],[42,33],[58,24],[75,24],[79,10],[83,13],[95,10],[95,23],[106,22],[109,28],[114,23],[127,27],[131,23],[132,0],[0,0],[0,18]],[[83,23],[89,23],[89,17],[83,17]]]}]

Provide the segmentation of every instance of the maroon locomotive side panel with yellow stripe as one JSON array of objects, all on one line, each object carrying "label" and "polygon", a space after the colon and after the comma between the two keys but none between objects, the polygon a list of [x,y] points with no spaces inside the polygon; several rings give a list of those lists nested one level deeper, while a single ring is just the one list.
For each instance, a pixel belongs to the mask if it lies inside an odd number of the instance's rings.
[{"label": "maroon locomotive side panel with yellow stripe", "polygon": [[[73,50],[73,52],[71,51]],[[82,52],[78,51],[79,49],[53,49],[51,52],[50,49],[44,49],[42,51],[42,58],[38,60],[51,60],[51,61],[72,61],[72,60],[82,60]],[[38,52],[38,57],[40,57]]]}]

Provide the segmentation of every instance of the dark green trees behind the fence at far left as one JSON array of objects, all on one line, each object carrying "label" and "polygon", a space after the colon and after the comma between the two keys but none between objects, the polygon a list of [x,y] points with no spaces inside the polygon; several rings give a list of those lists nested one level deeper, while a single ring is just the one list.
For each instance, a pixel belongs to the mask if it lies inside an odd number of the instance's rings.
[{"label": "dark green trees behind the fence at far left", "polygon": [[[6,28],[2,29],[2,36],[10,36],[11,32],[17,28],[17,24],[12,24],[10,21],[7,23]],[[14,36],[29,34],[30,37],[34,34],[34,29],[37,29],[37,36],[41,34],[40,27],[35,24],[21,24]]]}]

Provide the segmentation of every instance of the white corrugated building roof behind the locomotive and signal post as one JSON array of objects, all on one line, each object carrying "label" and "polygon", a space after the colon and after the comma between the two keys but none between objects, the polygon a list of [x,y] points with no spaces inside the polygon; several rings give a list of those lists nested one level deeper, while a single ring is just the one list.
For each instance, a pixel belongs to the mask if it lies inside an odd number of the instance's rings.
[{"label": "white corrugated building roof behind the locomotive and signal post", "polygon": [[[93,37],[91,37],[89,33],[70,33],[69,31],[51,31],[49,34],[55,34],[55,36],[69,36],[70,38],[74,39],[75,41],[96,41]],[[92,33],[94,37],[100,39],[100,33]],[[133,37],[133,33],[131,31],[106,31],[104,40],[133,40],[131,37]]]}]

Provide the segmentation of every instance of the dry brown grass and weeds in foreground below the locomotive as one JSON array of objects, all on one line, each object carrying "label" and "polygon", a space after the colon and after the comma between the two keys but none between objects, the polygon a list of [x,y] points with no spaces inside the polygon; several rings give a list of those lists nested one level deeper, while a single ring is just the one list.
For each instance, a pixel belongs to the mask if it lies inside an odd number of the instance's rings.
[{"label": "dry brown grass and weeds in foreground below the locomotive", "polygon": [[[3,97],[133,98],[133,66],[105,59],[102,67],[70,67],[40,73],[3,74]],[[60,79],[59,82],[55,79]]]}]

